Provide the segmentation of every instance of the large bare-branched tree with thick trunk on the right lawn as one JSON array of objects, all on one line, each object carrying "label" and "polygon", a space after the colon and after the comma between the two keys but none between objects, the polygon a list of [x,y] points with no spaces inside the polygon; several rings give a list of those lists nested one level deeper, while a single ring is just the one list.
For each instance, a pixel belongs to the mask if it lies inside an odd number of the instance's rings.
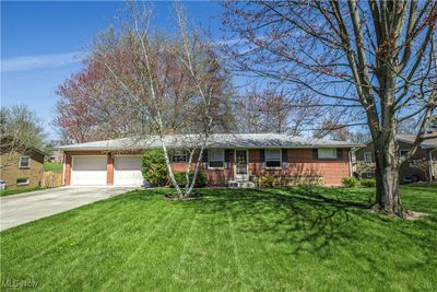
[{"label": "large bare-branched tree with thick trunk on the right lawn", "polygon": [[[375,145],[375,210],[403,215],[399,167],[426,139],[437,100],[436,1],[227,2],[234,65],[311,92],[366,124]],[[231,44],[229,42],[228,44]],[[355,115],[354,115],[355,114]],[[397,125],[420,116],[398,156]],[[347,122],[342,122],[347,125]]]}]

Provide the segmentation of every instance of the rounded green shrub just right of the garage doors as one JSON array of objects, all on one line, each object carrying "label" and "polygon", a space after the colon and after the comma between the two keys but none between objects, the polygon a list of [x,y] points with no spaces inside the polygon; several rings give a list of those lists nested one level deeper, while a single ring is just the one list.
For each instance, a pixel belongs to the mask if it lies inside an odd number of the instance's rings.
[{"label": "rounded green shrub just right of the garage doors", "polygon": [[141,156],[143,177],[151,186],[165,186],[168,184],[168,171],[165,164],[164,151],[151,149]]}]

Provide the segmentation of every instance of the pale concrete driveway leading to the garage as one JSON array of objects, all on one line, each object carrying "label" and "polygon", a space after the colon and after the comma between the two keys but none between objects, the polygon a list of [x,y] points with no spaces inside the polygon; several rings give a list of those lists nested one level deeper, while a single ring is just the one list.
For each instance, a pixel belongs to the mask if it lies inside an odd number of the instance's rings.
[{"label": "pale concrete driveway leading to the garage", "polygon": [[0,198],[0,231],[110,198],[134,187],[60,187]]}]

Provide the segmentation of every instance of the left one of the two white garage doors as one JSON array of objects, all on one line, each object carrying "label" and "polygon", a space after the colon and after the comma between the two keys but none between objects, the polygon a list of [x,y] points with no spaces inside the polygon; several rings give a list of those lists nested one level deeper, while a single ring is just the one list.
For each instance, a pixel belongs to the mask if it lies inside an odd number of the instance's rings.
[{"label": "left one of the two white garage doors", "polygon": [[75,156],[71,172],[72,186],[105,186],[106,156]]}]

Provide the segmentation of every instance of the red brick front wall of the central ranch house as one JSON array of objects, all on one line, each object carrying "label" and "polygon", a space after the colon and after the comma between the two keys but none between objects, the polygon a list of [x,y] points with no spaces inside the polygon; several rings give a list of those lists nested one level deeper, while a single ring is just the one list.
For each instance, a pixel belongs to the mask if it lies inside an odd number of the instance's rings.
[{"label": "red brick front wall of the central ranch house", "polygon": [[[291,175],[291,176],[322,176],[324,185],[336,186],[341,185],[341,179],[351,175],[350,166],[350,150],[342,149],[340,159],[315,159],[312,149],[284,149],[287,151],[287,167],[269,170],[261,163],[261,152],[259,149],[249,150],[248,168],[249,175]],[[114,184],[114,154],[102,151],[81,151],[64,153],[64,185],[70,185],[71,182],[71,155],[107,155],[107,184]],[[194,163],[191,168],[194,167]],[[283,164],[284,166],[285,164]],[[234,151],[228,151],[228,161],[225,166],[220,170],[208,168],[208,164],[201,163],[201,171],[208,178],[210,186],[226,186],[228,180],[234,179]],[[174,172],[185,172],[186,163],[173,163]]]}]

